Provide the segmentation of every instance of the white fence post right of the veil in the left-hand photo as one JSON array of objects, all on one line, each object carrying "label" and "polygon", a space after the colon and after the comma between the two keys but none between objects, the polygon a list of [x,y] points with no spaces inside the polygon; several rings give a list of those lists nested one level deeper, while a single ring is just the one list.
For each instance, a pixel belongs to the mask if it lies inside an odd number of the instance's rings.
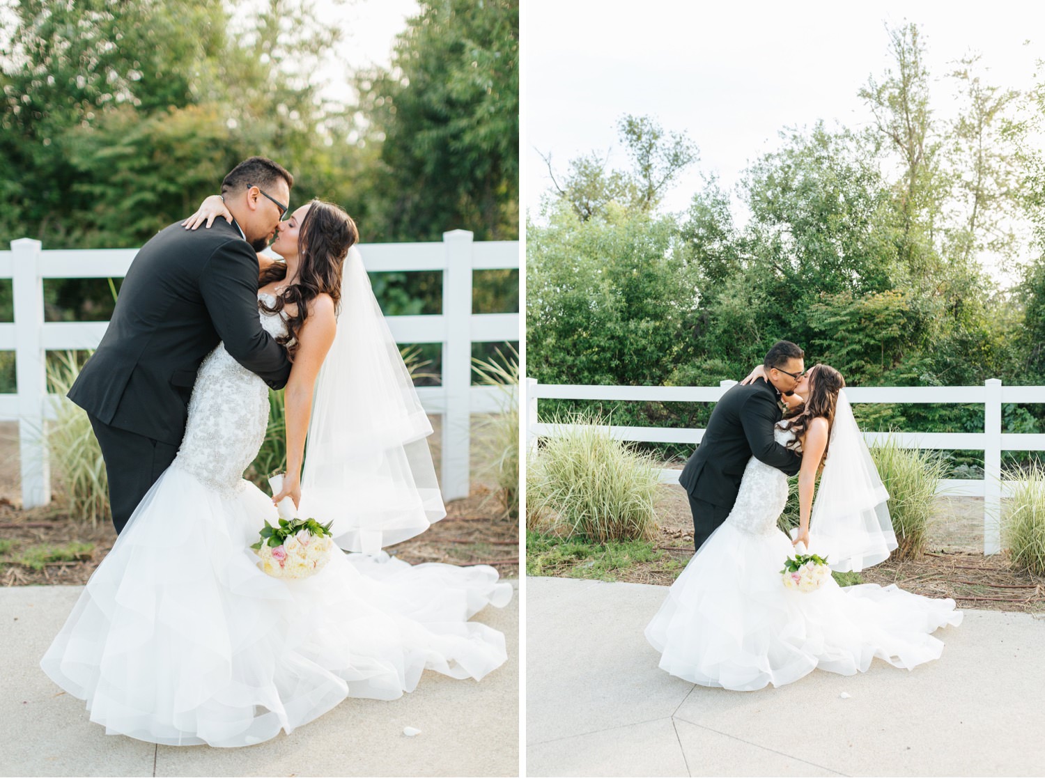
[{"label": "white fence post right of the veil in the left-hand photo", "polygon": [[467,230],[443,233],[446,266],[443,270],[443,498],[467,497],[470,475],[471,429],[471,242]]}]

